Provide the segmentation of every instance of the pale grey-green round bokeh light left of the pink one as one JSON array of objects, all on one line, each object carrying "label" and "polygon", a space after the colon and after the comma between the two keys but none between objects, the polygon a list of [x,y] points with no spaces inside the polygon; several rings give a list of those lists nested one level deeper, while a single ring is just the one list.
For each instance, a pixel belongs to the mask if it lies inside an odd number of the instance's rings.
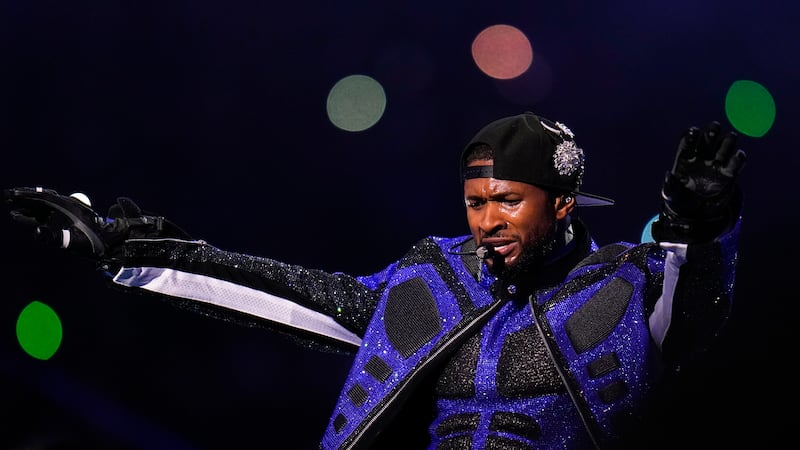
[{"label": "pale grey-green round bokeh light left of the pink one", "polygon": [[328,93],[328,119],[345,131],[364,131],[383,117],[386,93],[383,86],[366,75],[342,78]]}]

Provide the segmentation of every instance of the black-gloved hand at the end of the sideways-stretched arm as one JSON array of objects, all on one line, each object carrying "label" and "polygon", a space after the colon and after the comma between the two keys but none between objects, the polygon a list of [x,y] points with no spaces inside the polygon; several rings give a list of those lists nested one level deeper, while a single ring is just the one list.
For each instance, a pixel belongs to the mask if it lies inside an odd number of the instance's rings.
[{"label": "black-gloved hand at the end of the sideways-stretched arm", "polygon": [[39,242],[92,259],[103,270],[119,264],[126,239],[191,239],[180,227],[162,216],[143,212],[127,197],[117,198],[103,218],[85,196],[64,196],[39,187],[11,188],[3,194],[11,218],[33,228]]}]

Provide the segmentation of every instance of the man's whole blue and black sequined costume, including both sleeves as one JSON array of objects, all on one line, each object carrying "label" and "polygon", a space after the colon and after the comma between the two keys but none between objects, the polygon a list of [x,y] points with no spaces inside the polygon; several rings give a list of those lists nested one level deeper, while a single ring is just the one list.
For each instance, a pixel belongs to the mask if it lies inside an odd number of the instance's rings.
[{"label": "man's whole blue and black sequined costume, including both sleeves", "polygon": [[529,286],[457,254],[468,236],[428,237],[360,277],[133,239],[113,282],[357,351],[322,448],[603,447],[727,318],[738,223],[708,244],[600,248],[573,227],[574,248]]}]

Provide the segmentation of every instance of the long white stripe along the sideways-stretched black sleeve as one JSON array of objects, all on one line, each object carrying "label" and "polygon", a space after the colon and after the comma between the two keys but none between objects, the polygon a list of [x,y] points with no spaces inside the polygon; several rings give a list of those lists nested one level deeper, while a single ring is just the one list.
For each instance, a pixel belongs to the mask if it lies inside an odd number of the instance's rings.
[{"label": "long white stripe along the sideways-stretched black sleeve", "polygon": [[356,347],[361,345],[361,338],[324,314],[229,281],[157,267],[123,267],[113,281],[123,286],[241,311]]}]

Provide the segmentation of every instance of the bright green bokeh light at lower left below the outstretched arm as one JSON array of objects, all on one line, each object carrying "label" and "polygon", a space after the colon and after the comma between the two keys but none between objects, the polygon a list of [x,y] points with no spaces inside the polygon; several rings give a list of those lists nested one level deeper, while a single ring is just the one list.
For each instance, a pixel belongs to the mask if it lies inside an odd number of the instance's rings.
[{"label": "bright green bokeh light at lower left below the outstretched arm", "polygon": [[50,359],[61,345],[61,337],[61,320],[42,302],[29,303],[17,318],[19,345],[34,358]]}]

